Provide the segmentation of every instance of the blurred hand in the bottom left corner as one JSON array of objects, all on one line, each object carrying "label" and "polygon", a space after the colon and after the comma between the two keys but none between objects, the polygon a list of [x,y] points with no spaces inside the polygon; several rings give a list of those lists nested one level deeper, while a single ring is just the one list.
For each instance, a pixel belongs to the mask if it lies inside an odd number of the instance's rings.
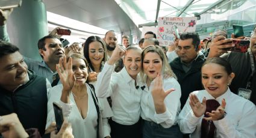
[{"label": "blurred hand in the bottom left corner", "polygon": [[0,133],[3,137],[28,137],[16,113],[1,116]]}]

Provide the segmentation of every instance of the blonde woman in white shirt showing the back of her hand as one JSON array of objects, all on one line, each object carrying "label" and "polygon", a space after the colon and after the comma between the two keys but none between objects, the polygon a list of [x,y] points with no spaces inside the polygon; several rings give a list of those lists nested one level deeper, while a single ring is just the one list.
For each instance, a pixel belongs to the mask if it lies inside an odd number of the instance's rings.
[{"label": "blonde woman in white shirt showing the back of her hand", "polygon": [[181,137],[176,118],[180,112],[181,88],[158,46],[142,52],[143,137]]}]

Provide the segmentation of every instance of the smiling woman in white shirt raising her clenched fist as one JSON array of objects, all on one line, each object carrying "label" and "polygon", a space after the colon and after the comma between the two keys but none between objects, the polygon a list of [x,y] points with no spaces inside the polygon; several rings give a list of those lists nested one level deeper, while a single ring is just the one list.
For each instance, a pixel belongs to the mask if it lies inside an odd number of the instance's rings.
[{"label": "smiling woman in white shirt raising her clenched fist", "polygon": [[[142,49],[139,46],[116,46],[109,61],[98,75],[96,96],[111,97],[113,116],[110,120],[111,137],[141,137],[140,79]],[[125,67],[114,73],[114,63],[123,58]]]}]

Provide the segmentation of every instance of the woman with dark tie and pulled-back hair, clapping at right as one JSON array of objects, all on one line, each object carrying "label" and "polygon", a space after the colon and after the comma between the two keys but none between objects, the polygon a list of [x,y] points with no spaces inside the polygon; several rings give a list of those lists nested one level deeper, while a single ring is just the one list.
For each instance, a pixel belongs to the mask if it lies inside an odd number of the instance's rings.
[{"label": "woman with dark tie and pulled-back hair, clapping at right", "polygon": [[235,76],[231,65],[211,58],[201,71],[205,90],[190,94],[178,118],[181,131],[192,138],[256,137],[255,105],[228,88]]}]

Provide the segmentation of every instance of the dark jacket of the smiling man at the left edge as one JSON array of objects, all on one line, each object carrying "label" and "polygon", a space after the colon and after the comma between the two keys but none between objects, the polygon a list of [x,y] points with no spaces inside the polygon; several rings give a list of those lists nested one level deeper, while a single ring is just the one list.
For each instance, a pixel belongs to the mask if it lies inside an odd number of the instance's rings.
[{"label": "dark jacket of the smiling man at the left edge", "polygon": [[29,78],[14,92],[0,87],[0,115],[16,113],[25,129],[38,128],[43,135],[48,101],[46,79],[33,74]]}]

